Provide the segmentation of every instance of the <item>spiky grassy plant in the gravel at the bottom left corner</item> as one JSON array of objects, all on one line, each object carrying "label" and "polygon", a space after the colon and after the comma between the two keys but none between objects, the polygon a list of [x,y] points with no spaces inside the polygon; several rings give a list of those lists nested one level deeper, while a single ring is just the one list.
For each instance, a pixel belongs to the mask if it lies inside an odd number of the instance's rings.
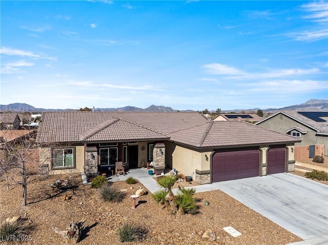
[{"label": "spiky grassy plant in the gravel at the bottom left corner", "polygon": [[0,237],[9,237],[12,240],[16,240],[19,237],[28,236],[33,229],[34,226],[29,223],[28,218],[7,218],[1,224]]}]

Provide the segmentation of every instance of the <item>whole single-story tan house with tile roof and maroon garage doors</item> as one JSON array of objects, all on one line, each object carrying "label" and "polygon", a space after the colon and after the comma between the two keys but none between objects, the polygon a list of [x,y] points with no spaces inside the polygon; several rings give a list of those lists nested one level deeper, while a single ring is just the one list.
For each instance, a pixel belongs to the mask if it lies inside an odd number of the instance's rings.
[{"label": "whole single-story tan house with tile roof and maroon garage doors", "polygon": [[213,122],[199,113],[45,112],[37,134],[50,170],[111,173],[153,161],[200,184],[294,170],[300,140],[245,122]]}]

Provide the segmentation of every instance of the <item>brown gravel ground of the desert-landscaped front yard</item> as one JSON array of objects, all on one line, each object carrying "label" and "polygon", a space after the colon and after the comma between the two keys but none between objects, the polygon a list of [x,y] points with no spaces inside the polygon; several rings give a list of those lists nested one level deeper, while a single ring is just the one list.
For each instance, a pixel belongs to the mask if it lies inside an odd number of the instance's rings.
[{"label": "brown gravel ground of the desert-landscaped front yard", "polygon": [[[5,182],[0,183],[0,221],[27,215],[35,226],[32,241],[24,244],[65,244],[52,228],[65,230],[72,220],[81,219],[86,219],[87,230],[78,244],[121,244],[117,228],[124,222],[134,222],[148,229],[142,240],[127,244],[283,245],[302,240],[219,190],[195,194],[200,199],[198,214],[175,216],[157,205],[151,194],[141,196],[136,209],[131,209],[129,195],[142,187],[140,183],[113,183],[119,189],[126,189],[127,196],[121,203],[108,203],[101,199],[98,189],[83,185],[79,175],[74,178],[78,186],[74,190],[53,191],[47,186],[58,179],[65,180],[67,176],[51,175],[45,180],[35,177],[28,185],[26,207],[21,206],[20,187],[11,186],[12,189],[6,191]],[[70,197],[67,201],[63,201],[64,193]],[[210,205],[205,206],[204,201],[209,201]],[[222,230],[227,226],[232,226],[242,235],[232,237]],[[216,233],[216,241],[202,240],[207,229]]]}]

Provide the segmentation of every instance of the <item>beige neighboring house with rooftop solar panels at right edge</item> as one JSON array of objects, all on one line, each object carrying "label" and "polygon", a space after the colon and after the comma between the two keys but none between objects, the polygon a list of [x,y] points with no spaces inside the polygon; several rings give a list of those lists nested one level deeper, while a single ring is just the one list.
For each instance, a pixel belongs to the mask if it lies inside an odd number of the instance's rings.
[{"label": "beige neighboring house with rooftop solar panels at right edge", "polygon": [[328,155],[328,112],[283,110],[256,125],[301,139],[295,144],[295,160]]}]

